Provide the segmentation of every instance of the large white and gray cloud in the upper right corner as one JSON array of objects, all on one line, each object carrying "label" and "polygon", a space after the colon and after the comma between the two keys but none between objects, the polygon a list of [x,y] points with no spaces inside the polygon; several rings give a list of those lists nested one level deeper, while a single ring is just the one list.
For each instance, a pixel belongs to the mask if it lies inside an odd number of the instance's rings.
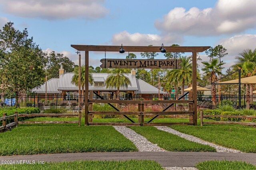
[{"label": "large white and gray cloud in the upper right corner", "polygon": [[256,27],[255,0],[218,0],[213,8],[174,8],[155,26],[164,33],[220,35]]}]

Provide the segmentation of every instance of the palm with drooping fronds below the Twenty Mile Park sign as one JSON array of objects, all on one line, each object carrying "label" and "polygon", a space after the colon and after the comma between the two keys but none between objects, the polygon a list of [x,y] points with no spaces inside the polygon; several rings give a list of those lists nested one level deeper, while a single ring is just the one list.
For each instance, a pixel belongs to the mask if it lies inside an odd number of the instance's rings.
[{"label": "palm with drooping fronds below the Twenty Mile Park sign", "polygon": [[117,88],[117,99],[119,98],[120,87],[131,85],[131,82],[128,77],[126,77],[123,72],[124,70],[121,68],[113,69],[113,74],[109,75],[106,79],[106,88]]}]

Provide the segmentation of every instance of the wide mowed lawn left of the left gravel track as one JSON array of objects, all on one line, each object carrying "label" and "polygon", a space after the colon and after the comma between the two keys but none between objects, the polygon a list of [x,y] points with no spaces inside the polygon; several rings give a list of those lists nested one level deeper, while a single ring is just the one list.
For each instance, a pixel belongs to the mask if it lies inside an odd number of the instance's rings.
[{"label": "wide mowed lawn left of the left gravel track", "polygon": [[112,126],[26,124],[0,133],[0,139],[0,155],[137,151]]}]

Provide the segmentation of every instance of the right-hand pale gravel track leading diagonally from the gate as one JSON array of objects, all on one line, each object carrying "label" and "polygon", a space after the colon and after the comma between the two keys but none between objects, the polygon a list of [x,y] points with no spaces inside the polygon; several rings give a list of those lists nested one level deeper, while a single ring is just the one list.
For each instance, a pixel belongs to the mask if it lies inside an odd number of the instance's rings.
[{"label": "right-hand pale gravel track leading diagonally from the gate", "polygon": [[172,133],[174,135],[178,135],[179,137],[182,137],[184,139],[187,139],[188,141],[192,141],[192,142],[196,142],[196,143],[200,143],[203,145],[209,145],[211,147],[214,147],[216,149],[217,152],[232,152],[232,153],[242,153],[240,150],[235,150],[235,149],[230,149],[230,148],[226,148],[226,147],[222,147],[219,145],[216,145],[214,143],[210,143],[207,141],[204,141],[198,137],[194,137],[192,135],[187,135],[185,133],[181,133],[179,131],[176,131],[170,127],[166,127],[166,126],[155,126],[157,129],[162,130],[162,131],[166,131],[168,133]]}]

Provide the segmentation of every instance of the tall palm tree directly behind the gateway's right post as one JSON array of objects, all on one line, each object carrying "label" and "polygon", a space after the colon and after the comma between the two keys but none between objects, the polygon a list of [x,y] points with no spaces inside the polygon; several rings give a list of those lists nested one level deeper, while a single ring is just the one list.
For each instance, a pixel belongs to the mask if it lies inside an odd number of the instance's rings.
[{"label": "tall palm tree directly behind the gateway's right post", "polygon": [[192,82],[192,64],[191,59],[188,57],[180,57],[181,68],[170,70],[169,76],[176,77],[178,83],[181,84],[181,95],[184,94],[185,84],[190,84]]}]

